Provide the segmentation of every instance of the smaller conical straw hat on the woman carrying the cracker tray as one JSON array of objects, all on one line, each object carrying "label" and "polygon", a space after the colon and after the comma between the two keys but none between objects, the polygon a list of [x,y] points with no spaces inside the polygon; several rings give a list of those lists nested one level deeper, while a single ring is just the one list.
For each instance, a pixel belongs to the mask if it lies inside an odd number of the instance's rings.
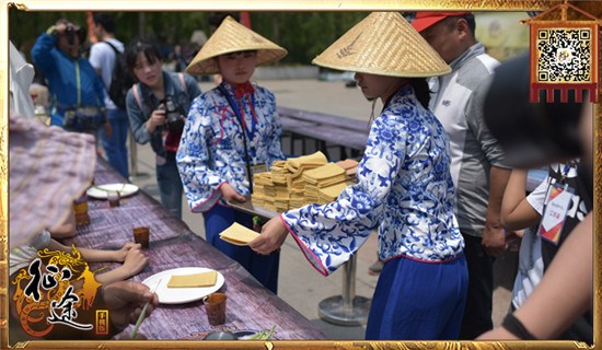
[{"label": "smaller conical straw hat on the woman carrying the cracker tray", "polygon": [[219,73],[213,57],[245,50],[257,50],[257,66],[275,62],[288,54],[285,48],[228,16],[200,48],[190,65],[186,67],[186,72],[190,74]]}]

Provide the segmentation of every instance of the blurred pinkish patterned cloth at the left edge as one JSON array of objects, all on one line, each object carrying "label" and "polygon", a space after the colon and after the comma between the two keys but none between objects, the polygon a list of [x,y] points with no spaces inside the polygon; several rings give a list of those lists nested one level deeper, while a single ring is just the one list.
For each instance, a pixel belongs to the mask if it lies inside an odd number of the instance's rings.
[{"label": "blurred pinkish patterned cloth at the left edge", "polygon": [[94,138],[9,114],[9,243],[27,244],[62,222],[92,182]]}]

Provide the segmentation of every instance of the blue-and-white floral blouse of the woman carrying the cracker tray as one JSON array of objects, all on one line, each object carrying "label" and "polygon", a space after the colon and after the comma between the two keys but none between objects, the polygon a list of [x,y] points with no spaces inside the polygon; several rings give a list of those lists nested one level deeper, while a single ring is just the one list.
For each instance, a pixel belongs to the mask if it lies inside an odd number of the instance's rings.
[{"label": "blue-and-white floral blouse of the woman carrying the cracker tray", "polygon": [[[270,165],[275,160],[283,159],[274,94],[254,86],[251,95],[239,98],[232,85],[225,82],[221,85],[231,94],[245,120],[251,163]],[[193,212],[205,212],[220,201],[219,188],[223,183],[243,196],[250,194],[242,126],[218,89],[194,101],[176,161]]]}]

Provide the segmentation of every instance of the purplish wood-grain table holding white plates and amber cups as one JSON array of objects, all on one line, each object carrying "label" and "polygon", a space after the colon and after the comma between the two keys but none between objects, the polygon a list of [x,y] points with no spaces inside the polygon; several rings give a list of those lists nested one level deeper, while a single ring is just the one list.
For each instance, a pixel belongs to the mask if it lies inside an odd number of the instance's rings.
[{"label": "purplish wood-grain table holding white plates and amber cups", "polygon": [[[119,183],[124,178],[100,160],[95,184]],[[261,330],[276,325],[273,339],[325,339],[309,319],[280,298],[265,289],[241,265],[207,244],[181,220],[169,213],[147,194],[121,198],[120,207],[109,208],[106,200],[89,199],[89,225],[79,228],[67,244],[93,248],[119,248],[132,241],[131,229],[151,228],[150,247],[146,250],[149,265],[134,280],[173,268],[206,267],[221,272],[225,279],[220,289],[228,295],[225,324],[210,326],[202,301],[185,304],[160,304],[146,319],[139,334],[148,339],[202,339],[211,330]],[[97,269],[105,265],[93,264]],[[117,266],[108,264],[108,266]],[[126,328],[129,334],[131,326]]]}]

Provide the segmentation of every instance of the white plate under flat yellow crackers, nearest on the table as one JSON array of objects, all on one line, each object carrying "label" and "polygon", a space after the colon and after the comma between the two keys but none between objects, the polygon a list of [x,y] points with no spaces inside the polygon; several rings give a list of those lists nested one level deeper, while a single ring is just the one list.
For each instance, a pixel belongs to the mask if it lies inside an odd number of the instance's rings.
[{"label": "white plate under flat yellow crackers, nearest on the table", "polygon": [[[142,283],[147,284],[150,290],[155,290],[159,295],[159,302],[162,304],[183,304],[189,303],[217,292],[224,282],[223,275],[218,272],[218,280],[216,284],[211,287],[196,287],[196,288],[167,288],[167,282],[173,275],[193,275],[199,272],[211,271],[205,267],[181,267],[176,269],[165,270],[163,272],[154,273],[147,278]],[[157,285],[159,283],[159,285]]]}]

